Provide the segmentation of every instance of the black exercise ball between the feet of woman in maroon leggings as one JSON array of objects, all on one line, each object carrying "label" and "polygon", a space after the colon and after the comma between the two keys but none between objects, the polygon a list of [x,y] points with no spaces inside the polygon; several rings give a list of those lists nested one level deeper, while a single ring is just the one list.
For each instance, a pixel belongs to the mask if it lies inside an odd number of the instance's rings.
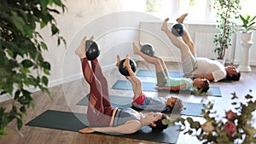
[{"label": "black exercise ball between the feet of woman in maroon leggings", "polygon": [[100,55],[98,44],[92,40],[85,41],[85,51],[87,60],[95,60]]}]

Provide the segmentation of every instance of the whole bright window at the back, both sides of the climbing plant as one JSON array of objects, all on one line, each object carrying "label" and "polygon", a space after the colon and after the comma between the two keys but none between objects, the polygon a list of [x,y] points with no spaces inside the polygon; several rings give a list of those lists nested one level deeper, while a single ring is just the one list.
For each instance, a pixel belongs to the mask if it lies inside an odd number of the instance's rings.
[{"label": "whole bright window at the back, both sides of the climbing plant", "polygon": [[[241,14],[256,15],[255,0],[240,0]],[[191,22],[215,22],[214,0],[146,0],[145,11],[161,19],[175,20],[179,15],[189,13]]]}]

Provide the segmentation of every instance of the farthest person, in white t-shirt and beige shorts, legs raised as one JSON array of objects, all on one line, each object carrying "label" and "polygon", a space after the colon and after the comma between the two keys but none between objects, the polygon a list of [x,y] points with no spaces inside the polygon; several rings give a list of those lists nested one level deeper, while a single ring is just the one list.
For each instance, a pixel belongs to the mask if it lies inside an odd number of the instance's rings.
[{"label": "farthest person, in white t-shirt and beige shorts, legs raised", "polygon": [[[183,23],[187,15],[188,14],[181,15],[177,18],[177,22]],[[183,41],[180,41],[179,38],[168,29],[168,20],[168,18],[164,20],[161,31],[165,32],[171,42],[180,49],[183,72],[186,77],[207,78],[214,82],[218,82],[224,78],[230,80],[240,79],[241,74],[235,66],[223,66],[217,60],[211,60],[206,57],[196,57],[194,43],[189,36],[189,32],[184,30],[182,36]]]}]

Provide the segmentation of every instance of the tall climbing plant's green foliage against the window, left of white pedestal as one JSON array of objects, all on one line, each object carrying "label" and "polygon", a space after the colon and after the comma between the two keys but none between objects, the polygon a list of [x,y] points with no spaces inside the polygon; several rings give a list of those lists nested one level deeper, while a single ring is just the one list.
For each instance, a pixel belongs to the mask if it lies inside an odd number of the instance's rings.
[{"label": "tall climbing plant's green foliage against the window, left of white pedestal", "polygon": [[217,11],[217,28],[219,32],[214,35],[214,52],[218,54],[218,59],[224,59],[226,49],[231,46],[232,34],[236,27],[239,10],[241,9],[240,0],[214,0],[213,9]]}]

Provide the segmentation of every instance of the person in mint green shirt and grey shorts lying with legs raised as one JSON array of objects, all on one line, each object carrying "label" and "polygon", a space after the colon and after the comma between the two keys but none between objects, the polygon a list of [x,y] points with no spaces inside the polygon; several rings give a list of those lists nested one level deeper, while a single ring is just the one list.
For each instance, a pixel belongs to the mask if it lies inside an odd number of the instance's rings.
[{"label": "person in mint green shirt and grey shorts lying with legs raised", "polygon": [[[143,45],[139,42],[140,47]],[[143,52],[137,48],[135,42],[132,43],[134,55],[140,55],[144,60],[154,65],[156,72],[157,84],[155,89],[165,89],[165,90],[183,90],[191,89],[196,87],[200,92],[207,92],[209,87],[209,80],[206,78],[172,78],[169,76],[168,69],[163,59],[153,55],[148,56],[143,54]]]}]

